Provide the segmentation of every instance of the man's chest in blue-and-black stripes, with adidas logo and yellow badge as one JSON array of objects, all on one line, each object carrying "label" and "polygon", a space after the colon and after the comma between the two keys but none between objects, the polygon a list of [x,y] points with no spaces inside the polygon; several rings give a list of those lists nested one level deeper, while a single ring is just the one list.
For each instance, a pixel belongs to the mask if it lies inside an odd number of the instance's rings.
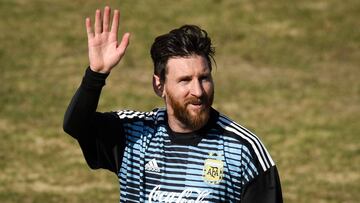
[{"label": "man's chest in blue-and-black stripes, with adidas logo and yellow badge", "polygon": [[[220,136],[174,144],[166,131],[129,142],[119,173],[121,199],[140,202],[236,202],[241,152]],[[235,145],[234,145],[235,146]]]}]

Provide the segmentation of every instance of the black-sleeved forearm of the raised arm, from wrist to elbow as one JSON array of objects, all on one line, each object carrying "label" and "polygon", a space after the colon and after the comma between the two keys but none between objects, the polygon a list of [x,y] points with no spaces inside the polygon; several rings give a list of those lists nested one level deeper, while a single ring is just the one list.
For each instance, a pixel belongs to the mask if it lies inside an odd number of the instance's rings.
[{"label": "black-sleeved forearm of the raised arm, from wrist to elbow", "polygon": [[102,87],[108,74],[86,70],[79,89],[73,96],[64,116],[64,131],[74,138],[86,134],[95,117]]}]

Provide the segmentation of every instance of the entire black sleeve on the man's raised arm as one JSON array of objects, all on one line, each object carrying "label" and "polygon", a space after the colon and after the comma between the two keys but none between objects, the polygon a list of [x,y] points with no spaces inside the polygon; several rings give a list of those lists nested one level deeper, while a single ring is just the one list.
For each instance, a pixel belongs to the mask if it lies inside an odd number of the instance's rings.
[{"label": "entire black sleeve on the man's raised arm", "polygon": [[114,112],[96,112],[107,76],[86,70],[66,110],[63,129],[79,142],[90,168],[117,173],[125,147],[121,120]]}]

